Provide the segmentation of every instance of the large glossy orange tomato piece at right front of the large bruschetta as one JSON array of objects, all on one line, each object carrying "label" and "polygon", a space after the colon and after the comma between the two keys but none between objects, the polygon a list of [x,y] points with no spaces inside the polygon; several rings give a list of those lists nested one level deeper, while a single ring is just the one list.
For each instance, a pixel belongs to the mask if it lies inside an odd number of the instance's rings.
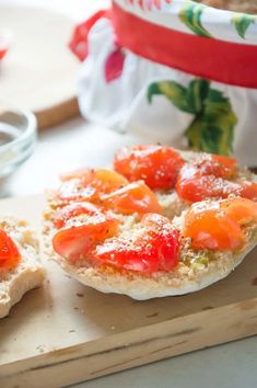
[{"label": "large glossy orange tomato piece at right front of the large bruschetta", "polygon": [[245,243],[237,221],[219,206],[211,209],[192,206],[185,216],[183,235],[191,239],[196,249],[235,250]]}]

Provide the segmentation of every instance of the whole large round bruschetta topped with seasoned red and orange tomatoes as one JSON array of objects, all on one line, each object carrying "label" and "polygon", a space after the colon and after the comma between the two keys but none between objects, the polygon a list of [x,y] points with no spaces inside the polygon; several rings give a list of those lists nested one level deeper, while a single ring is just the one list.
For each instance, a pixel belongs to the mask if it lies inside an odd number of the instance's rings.
[{"label": "whole large round bruschetta topped with seasoned red and orange tomatoes", "polygon": [[137,146],[114,170],[61,176],[48,197],[49,256],[81,283],[135,299],[226,276],[257,242],[255,175],[232,158]]}]

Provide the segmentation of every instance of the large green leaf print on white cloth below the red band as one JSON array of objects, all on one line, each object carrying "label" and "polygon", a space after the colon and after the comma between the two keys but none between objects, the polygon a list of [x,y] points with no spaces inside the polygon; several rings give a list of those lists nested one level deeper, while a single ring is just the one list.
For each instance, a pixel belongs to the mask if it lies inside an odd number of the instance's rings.
[{"label": "large green leaf print on white cloth below the red band", "polygon": [[148,89],[149,103],[155,94],[164,95],[180,111],[195,115],[185,130],[189,147],[211,153],[232,153],[237,119],[230,100],[221,91],[211,89],[210,81],[195,79],[187,88],[174,81],[154,82]]}]

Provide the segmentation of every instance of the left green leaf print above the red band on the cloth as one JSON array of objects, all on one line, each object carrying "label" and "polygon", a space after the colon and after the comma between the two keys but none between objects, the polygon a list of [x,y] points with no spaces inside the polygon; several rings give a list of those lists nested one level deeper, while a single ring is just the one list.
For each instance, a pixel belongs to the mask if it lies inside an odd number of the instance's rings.
[{"label": "left green leaf print above the red band on the cloth", "polygon": [[205,9],[206,7],[202,4],[197,4],[194,1],[186,1],[178,15],[180,21],[196,35],[211,37],[211,34],[201,24],[201,15]]}]

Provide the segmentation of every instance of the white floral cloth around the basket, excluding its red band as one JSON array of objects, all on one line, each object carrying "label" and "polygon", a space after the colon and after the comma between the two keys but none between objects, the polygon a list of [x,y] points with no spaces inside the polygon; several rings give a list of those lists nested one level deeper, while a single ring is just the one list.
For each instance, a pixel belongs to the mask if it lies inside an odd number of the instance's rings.
[{"label": "white floral cloth around the basket, excluding its red band", "polygon": [[[129,14],[177,32],[257,46],[255,15],[184,0],[114,3]],[[235,155],[242,163],[257,166],[257,88],[203,79],[143,58],[120,46],[105,15],[89,33],[87,53],[79,91],[86,118],[133,133],[147,142]]]}]

